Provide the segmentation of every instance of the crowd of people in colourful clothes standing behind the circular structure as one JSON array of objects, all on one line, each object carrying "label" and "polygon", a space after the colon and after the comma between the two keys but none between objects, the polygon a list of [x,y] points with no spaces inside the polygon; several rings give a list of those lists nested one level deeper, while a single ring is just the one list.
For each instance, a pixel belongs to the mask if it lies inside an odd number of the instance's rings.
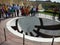
[{"label": "crowd of people in colourful clothes standing behind the circular structure", "polygon": [[0,4],[0,18],[34,16],[38,12],[38,6],[19,6],[18,4]]}]

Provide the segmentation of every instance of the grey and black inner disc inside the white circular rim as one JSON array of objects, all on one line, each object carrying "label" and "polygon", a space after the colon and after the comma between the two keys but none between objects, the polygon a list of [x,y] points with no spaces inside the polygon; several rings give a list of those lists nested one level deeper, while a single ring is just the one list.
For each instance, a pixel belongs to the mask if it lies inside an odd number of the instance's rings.
[{"label": "grey and black inner disc inside the white circular rim", "polygon": [[43,38],[59,37],[59,24],[57,21],[38,17],[23,17],[17,21],[20,32],[23,31],[26,35]]}]

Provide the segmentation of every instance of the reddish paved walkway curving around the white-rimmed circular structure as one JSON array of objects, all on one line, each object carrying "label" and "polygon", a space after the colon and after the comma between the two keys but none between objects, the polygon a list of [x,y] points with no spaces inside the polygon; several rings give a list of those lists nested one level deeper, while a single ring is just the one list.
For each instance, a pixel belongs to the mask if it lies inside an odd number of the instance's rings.
[{"label": "reddish paved walkway curving around the white-rimmed circular structure", "polygon": [[[2,20],[0,22],[0,45],[23,45],[23,39],[12,34],[5,28],[5,24],[12,18]],[[4,28],[6,30],[7,41],[4,41]],[[25,39],[25,45],[51,45],[51,42],[34,42]],[[54,45],[60,45],[60,42],[55,42]]]}]

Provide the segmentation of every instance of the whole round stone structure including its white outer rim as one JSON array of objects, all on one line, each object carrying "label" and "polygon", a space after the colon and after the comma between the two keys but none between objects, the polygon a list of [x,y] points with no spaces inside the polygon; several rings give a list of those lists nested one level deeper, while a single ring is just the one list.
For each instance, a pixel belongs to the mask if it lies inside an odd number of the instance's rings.
[{"label": "whole round stone structure including its white outer rim", "polygon": [[54,41],[60,42],[60,23],[56,20],[22,16],[8,21],[6,26],[11,33],[19,37],[25,33],[25,38],[32,41],[51,42],[54,36]]}]

